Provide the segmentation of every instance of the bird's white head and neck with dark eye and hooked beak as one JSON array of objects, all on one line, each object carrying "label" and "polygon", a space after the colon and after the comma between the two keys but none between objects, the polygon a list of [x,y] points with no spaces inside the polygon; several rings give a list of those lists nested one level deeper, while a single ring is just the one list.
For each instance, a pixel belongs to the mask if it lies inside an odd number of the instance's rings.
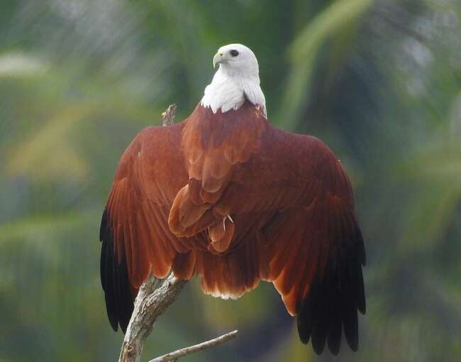
[{"label": "bird's white head and neck with dark eye and hooked beak", "polygon": [[260,87],[259,67],[255,53],[242,44],[224,45],[213,57],[213,67],[219,66],[213,80],[205,88],[201,105],[211,107],[214,113],[239,109],[245,99],[262,107],[266,101]]}]

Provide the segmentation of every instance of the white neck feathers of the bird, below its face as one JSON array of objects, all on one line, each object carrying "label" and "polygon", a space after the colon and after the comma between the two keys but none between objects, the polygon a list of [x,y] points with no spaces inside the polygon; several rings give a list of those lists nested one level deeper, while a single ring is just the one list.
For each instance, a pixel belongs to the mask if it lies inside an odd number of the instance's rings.
[{"label": "white neck feathers of the bird, below its face", "polygon": [[261,106],[266,113],[266,100],[260,87],[260,77],[256,75],[240,75],[237,72],[226,72],[220,65],[211,83],[206,86],[200,104],[210,107],[213,113],[219,109],[225,113],[231,109],[239,109],[245,97],[255,106]]}]

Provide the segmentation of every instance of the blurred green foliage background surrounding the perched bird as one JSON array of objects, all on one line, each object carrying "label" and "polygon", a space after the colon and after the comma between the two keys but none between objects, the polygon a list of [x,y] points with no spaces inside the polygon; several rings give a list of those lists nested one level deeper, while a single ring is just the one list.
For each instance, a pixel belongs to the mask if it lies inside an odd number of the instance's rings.
[{"label": "blurred green foliage background surrounding the perched bird", "polygon": [[238,301],[198,281],[143,360],[228,331],[184,361],[461,358],[461,4],[456,0],[2,0],[0,361],[113,361],[99,218],[140,129],[199,102],[211,58],[244,43],[270,121],[326,141],[366,238],[360,349],[317,357],[277,292]]}]

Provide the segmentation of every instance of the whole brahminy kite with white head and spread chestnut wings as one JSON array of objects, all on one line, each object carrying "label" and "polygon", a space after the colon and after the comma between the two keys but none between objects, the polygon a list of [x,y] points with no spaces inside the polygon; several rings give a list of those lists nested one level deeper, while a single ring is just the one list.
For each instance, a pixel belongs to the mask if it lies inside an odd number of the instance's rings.
[{"label": "whole brahminy kite with white head and spread chestnut wings", "polygon": [[344,332],[355,351],[365,247],[348,175],[322,141],[267,121],[252,50],[223,46],[216,65],[192,114],[145,128],[118,164],[100,231],[111,326],[172,270],[221,298],[272,282],[304,344],[336,354]]}]

